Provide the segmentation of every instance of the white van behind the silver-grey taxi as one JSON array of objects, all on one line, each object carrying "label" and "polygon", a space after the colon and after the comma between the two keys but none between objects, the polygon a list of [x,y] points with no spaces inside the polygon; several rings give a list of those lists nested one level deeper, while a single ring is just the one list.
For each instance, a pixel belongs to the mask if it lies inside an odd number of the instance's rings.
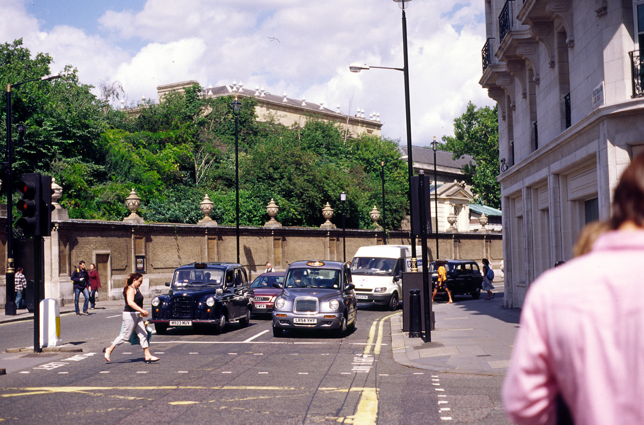
[{"label": "white van behind the silver-grey taxi", "polygon": [[[419,271],[422,270],[421,247],[416,247]],[[357,302],[388,304],[398,308],[403,293],[403,272],[412,268],[412,246],[361,246],[351,262],[351,278]]]}]

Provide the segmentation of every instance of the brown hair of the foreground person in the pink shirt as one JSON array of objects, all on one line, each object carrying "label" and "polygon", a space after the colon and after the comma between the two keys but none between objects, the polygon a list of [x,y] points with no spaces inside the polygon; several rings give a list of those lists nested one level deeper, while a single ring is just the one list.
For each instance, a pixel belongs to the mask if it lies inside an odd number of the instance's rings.
[{"label": "brown hair of the foreground person in the pink shirt", "polygon": [[632,221],[644,227],[644,153],[639,153],[620,177],[612,203],[611,227]]}]

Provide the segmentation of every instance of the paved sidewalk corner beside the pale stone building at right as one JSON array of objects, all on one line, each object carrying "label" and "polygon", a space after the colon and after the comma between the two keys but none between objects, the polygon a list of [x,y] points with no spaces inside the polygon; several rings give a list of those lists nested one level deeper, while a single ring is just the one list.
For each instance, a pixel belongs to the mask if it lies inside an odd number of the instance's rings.
[{"label": "paved sidewalk corner beside the pale stone building at right", "polygon": [[434,302],[431,342],[403,332],[403,315],[391,319],[393,359],[412,368],[477,375],[506,375],[521,310],[504,308],[503,292],[492,300],[457,297]]}]

